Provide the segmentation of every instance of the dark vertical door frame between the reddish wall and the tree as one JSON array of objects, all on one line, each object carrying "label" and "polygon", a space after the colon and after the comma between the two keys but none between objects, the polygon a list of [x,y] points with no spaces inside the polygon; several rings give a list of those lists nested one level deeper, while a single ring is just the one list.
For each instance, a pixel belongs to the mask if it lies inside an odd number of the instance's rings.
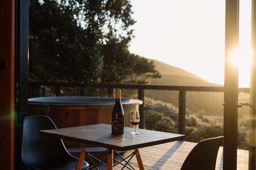
[{"label": "dark vertical door frame between the reddish wall and the tree", "polygon": [[[4,4],[3,11],[6,8]],[[29,1],[6,1],[15,4],[15,169],[26,169],[21,160],[22,122],[23,117],[28,114],[28,37],[29,37]],[[14,3],[15,2],[15,3]],[[13,8],[13,9],[14,9]],[[4,15],[1,15],[4,16]],[[7,15],[8,16],[8,15]],[[6,16],[6,21],[9,21]],[[14,18],[14,15],[10,15]],[[5,21],[5,20],[2,20]],[[11,20],[10,20],[11,21]],[[2,24],[0,24],[2,25]],[[8,31],[5,32],[8,35]],[[14,35],[14,33],[13,33]],[[2,37],[2,36],[1,36]],[[9,37],[11,39],[12,36]],[[4,41],[4,38],[2,38]],[[5,44],[9,44],[8,41]],[[14,51],[14,50],[13,50]],[[3,54],[3,52],[2,52]],[[11,113],[11,112],[10,112]],[[6,138],[7,139],[7,138]],[[7,140],[6,140],[7,141]],[[4,145],[4,143],[2,143]],[[7,147],[6,147],[7,148]],[[3,154],[5,155],[5,154]],[[8,157],[6,155],[5,157]],[[2,159],[4,160],[4,159]],[[4,166],[1,165],[1,168]],[[7,169],[7,168],[4,168]]]}]

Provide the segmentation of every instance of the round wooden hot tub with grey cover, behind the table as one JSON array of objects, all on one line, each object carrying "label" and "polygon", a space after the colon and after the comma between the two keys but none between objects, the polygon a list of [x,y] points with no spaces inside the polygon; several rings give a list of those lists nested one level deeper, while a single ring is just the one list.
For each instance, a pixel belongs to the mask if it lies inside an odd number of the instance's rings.
[{"label": "round wooden hot tub with grey cover, behind the table", "polygon": [[[52,118],[57,128],[89,124],[111,124],[111,114],[115,105],[112,97],[36,97],[28,99],[29,115],[47,115]],[[130,111],[139,109],[141,100],[122,98],[124,124],[130,124]],[[69,142],[65,142],[68,147]]]}]

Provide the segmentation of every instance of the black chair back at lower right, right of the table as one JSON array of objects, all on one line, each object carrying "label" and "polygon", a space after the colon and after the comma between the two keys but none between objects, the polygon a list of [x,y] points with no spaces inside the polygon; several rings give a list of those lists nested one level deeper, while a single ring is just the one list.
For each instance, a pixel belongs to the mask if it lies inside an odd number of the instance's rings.
[{"label": "black chair back at lower right, right of the table", "polygon": [[189,152],[181,170],[215,170],[216,159],[224,137],[209,138],[200,141]]}]

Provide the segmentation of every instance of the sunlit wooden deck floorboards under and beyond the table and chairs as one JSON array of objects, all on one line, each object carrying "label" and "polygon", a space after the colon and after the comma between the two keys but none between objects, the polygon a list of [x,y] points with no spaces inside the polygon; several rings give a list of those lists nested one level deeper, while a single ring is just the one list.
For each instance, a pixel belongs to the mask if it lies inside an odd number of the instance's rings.
[{"label": "sunlit wooden deck floorboards under and beyond the table and chairs", "polygon": [[[158,170],[158,169],[169,169],[177,170],[180,169],[183,161],[188,155],[189,151],[196,145],[194,142],[186,141],[175,141],[169,142],[162,145],[140,148],[140,155],[143,160],[145,169]],[[90,150],[89,150],[90,151]],[[132,151],[124,152],[123,155],[127,156]],[[216,169],[222,169],[222,152],[223,148],[220,147],[217,157]],[[134,156],[130,164],[135,168],[138,168],[137,159]],[[122,167],[117,165],[114,169],[121,169]],[[100,169],[106,169],[106,166],[100,167]],[[128,169],[128,168],[124,168]],[[244,170],[248,169],[248,151],[237,150],[237,169]]]}]

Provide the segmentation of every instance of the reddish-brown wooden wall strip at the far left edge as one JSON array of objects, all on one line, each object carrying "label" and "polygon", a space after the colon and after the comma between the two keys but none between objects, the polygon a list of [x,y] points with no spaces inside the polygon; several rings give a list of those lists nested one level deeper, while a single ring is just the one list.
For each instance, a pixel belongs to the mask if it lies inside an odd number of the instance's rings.
[{"label": "reddish-brown wooden wall strip at the far left edge", "polygon": [[14,169],[14,0],[0,1],[0,169]]}]

